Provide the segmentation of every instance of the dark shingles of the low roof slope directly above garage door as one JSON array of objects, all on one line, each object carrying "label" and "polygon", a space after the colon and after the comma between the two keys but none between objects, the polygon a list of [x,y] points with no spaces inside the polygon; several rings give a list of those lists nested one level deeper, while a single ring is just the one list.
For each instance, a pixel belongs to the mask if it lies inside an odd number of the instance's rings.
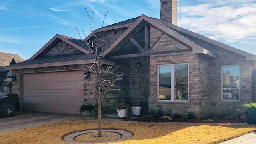
[{"label": "dark shingles of the low roof slope directly above garage door", "polygon": [[[35,58],[33,60],[26,60],[24,62],[12,64],[8,67],[26,66],[26,65],[33,65],[33,64],[45,64],[45,63],[54,63],[54,62],[70,62],[70,61],[77,61],[77,60],[92,60],[92,59],[94,59],[92,54],[85,54],[85,53],[65,54],[65,55]],[[100,60],[111,62],[111,60],[108,60],[106,58],[100,58]]]}]

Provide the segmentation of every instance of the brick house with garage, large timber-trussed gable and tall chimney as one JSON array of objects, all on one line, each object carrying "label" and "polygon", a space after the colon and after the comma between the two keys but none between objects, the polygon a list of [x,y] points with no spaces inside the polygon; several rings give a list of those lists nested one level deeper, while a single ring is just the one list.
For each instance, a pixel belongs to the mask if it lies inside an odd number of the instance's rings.
[{"label": "brick house with garage, large timber-trussed gable and tall chimney", "polygon": [[[149,108],[194,112],[199,118],[240,115],[244,103],[256,102],[256,56],[178,27],[176,21],[177,0],[161,0],[160,19],[142,15],[103,27],[100,63],[124,72],[116,84],[122,91],[108,93],[103,113],[115,112],[133,92]],[[57,34],[29,60],[6,70],[17,76],[13,91],[24,111],[78,113],[84,102],[97,103],[94,93],[79,85],[93,84],[94,78],[84,78],[77,66],[93,61],[82,40]]]}]

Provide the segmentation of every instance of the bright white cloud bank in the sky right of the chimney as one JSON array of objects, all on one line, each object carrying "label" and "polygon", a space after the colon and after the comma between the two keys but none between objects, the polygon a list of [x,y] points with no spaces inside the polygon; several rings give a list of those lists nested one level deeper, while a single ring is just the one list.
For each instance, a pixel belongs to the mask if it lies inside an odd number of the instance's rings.
[{"label": "bright white cloud bank in the sky right of the chimney", "polygon": [[256,4],[239,6],[202,4],[178,7],[178,12],[180,27],[209,35],[213,39],[234,42],[248,37],[256,38]]}]

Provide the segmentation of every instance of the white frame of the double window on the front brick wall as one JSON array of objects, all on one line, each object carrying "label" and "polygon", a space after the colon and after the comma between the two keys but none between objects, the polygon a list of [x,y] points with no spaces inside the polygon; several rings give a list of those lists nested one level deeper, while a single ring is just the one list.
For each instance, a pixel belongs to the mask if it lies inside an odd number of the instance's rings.
[{"label": "white frame of the double window on the front brick wall", "polygon": [[[182,100],[175,100],[175,66],[176,65],[188,65],[188,100],[182,101]],[[160,100],[159,99],[159,67],[160,66],[171,66],[172,72],[171,72],[171,100]],[[181,63],[181,64],[161,64],[157,66],[157,101],[159,102],[188,102],[189,101],[189,63]]]}]

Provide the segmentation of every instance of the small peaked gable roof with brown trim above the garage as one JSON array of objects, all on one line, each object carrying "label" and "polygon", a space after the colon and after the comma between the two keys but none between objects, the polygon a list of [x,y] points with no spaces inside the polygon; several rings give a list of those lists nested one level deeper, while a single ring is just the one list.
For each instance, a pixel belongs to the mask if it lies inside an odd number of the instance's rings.
[{"label": "small peaked gable roof with brown trim above the garage", "polygon": [[56,45],[56,43],[58,43],[59,41],[64,41],[68,45],[71,45],[72,47],[75,47],[76,49],[78,49],[78,50],[80,50],[84,53],[87,53],[87,54],[91,53],[90,51],[88,51],[86,49],[87,46],[84,44],[84,42],[81,39],[76,39],[76,38],[73,38],[73,37],[68,37],[68,36],[65,36],[65,35],[56,34],[52,39],[50,39],[50,41],[48,41],[48,43],[46,43],[38,52],[36,52],[30,58],[30,60],[33,60],[35,58],[39,58],[39,57],[43,56],[50,49],[52,49],[52,47],[54,45]]}]

